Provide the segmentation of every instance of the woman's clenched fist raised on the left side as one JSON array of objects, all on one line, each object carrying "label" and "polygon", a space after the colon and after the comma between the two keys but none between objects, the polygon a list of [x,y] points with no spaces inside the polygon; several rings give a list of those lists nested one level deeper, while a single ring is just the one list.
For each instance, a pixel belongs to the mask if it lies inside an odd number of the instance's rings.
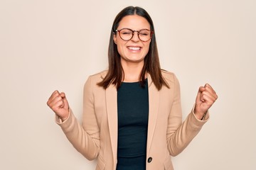
[{"label": "woman's clenched fist raised on the left side", "polygon": [[61,118],[61,120],[64,121],[68,118],[68,100],[63,92],[59,93],[58,91],[54,91],[48,99],[47,105]]}]

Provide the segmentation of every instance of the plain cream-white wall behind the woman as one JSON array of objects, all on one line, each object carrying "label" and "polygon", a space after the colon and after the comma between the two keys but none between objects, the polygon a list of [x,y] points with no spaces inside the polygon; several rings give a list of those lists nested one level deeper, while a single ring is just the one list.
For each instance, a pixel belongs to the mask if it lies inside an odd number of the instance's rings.
[{"label": "plain cream-white wall behind the woman", "polygon": [[183,118],[198,87],[218,101],[175,169],[256,169],[256,1],[0,1],[0,169],[95,169],[46,105],[65,91],[82,115],[82,88],[107,69],[114,17],[142,6],[156,29],[161,67],[181,84]]}]

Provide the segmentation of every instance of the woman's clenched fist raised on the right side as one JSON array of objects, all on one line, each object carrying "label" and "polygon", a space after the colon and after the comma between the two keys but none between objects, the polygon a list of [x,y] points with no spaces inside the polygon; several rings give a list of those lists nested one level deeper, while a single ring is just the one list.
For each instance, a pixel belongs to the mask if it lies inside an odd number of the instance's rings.
[{"label": "woman's clenched fist raised on the right side", "polygon": [[199,87],[198,94],[196,96],[196,107],[194,110],[196,117],[201,120],[208,109],[213,106],[213,103],[217,98],[218,96],[210,84]]}]

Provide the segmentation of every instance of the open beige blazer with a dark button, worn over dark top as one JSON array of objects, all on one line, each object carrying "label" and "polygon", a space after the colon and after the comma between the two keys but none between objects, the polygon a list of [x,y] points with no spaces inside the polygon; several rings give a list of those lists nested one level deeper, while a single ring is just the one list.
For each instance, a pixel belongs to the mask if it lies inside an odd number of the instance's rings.
[{"label": "open beige blazer with a dark button, worn over dark top", "polygon": [[[115,170],[117,165],[117,89],[97,86],[107,71],[90,76],[84,87],[82,125],[73,115],[57,123],[75,149],[89,160],[97,158],[97,170]],[[193,112],[181,122],[180,87],[176,76],[162,71],[170,89],[160,91],[147,74],[149,84],[149,123],[146,146],[147,170],[172,170],[176,156],[191,142],[208,120],[198,120]],[[132,106],[131,106],[132,107]],[[193,109],[192,109],[193,111]]]}]

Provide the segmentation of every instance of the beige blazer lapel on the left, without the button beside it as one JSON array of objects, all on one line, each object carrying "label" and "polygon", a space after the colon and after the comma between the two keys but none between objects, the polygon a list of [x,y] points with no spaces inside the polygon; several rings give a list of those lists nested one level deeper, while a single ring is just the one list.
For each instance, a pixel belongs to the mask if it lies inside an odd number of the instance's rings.
[{"label": "beige blazer lapel on the left, without the button beside it", "polygon": [[111,84],[106,89],[107,120],[110,128],[110,140],[114,164],[117,160],[117,88]]}]

